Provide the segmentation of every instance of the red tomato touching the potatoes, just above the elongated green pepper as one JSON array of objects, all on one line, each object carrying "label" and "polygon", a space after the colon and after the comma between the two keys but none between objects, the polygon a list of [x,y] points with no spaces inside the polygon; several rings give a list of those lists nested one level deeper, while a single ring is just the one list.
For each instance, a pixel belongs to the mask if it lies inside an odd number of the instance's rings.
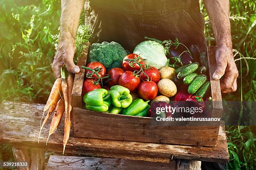
[{"label": "red tomato touching the potatoes, just above the elongated green pepper", "polygon": [[138,94],[145,100],[152,100],[156,97],[158,92],[157,85],[155,82],[141,82],[138,87]]}]

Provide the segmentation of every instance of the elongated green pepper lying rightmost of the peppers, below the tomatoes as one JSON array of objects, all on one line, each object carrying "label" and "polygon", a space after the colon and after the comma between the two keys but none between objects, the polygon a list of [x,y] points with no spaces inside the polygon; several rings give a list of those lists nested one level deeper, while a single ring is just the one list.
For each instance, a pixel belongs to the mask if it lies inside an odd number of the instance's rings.
[{"label": "elongated green pepper lying rightmost of the peppers, below the tomatoes", "polygon": [[135,116],[148,107],[148,101],[144,102],[142,99],[134,100],[129,107],[123,110],[123,115]]}]

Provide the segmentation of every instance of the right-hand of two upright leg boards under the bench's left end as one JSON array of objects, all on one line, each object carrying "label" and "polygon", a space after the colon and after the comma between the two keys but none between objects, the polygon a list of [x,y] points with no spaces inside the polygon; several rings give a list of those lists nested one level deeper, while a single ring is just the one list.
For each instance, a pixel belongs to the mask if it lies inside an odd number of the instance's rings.
[{"label": "right-hand of two upright leg boards under the bench's left end", "polygon": [[44,170],[44,150],[31,149],[31,170]]}]

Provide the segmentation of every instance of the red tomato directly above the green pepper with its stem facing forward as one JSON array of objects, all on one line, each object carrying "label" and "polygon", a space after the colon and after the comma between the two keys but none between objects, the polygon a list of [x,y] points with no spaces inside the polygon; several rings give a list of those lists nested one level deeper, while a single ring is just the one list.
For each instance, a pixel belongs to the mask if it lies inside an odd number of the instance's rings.
[{"label": "red tomato directly above the green pepper with its stem facing forward", "polygon": [[126,87],[130,92],[135,91],[140,85],[140,79],[133,75],[131,71],[125,71],[119,78],[118,85]]}]

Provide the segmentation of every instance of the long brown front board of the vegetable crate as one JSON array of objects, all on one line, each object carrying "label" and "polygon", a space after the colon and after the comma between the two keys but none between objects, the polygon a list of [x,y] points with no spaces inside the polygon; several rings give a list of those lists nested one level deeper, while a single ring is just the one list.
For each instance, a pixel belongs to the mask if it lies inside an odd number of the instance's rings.
[{"label": "long brown front board of the vegetable crate", "polygon": [[[176,122],[153,122],[150,117],[114,115],[73,108],[74,136],[95,139],[215,146],[219,123],[210,125],[175,125]],[[134,123],[136,122],[136,123]],[[84,128],[86,125],[86,128]],[[102,128],[102,126],[104,128]],[[124,135],[125,134],[125,135]]]}]

